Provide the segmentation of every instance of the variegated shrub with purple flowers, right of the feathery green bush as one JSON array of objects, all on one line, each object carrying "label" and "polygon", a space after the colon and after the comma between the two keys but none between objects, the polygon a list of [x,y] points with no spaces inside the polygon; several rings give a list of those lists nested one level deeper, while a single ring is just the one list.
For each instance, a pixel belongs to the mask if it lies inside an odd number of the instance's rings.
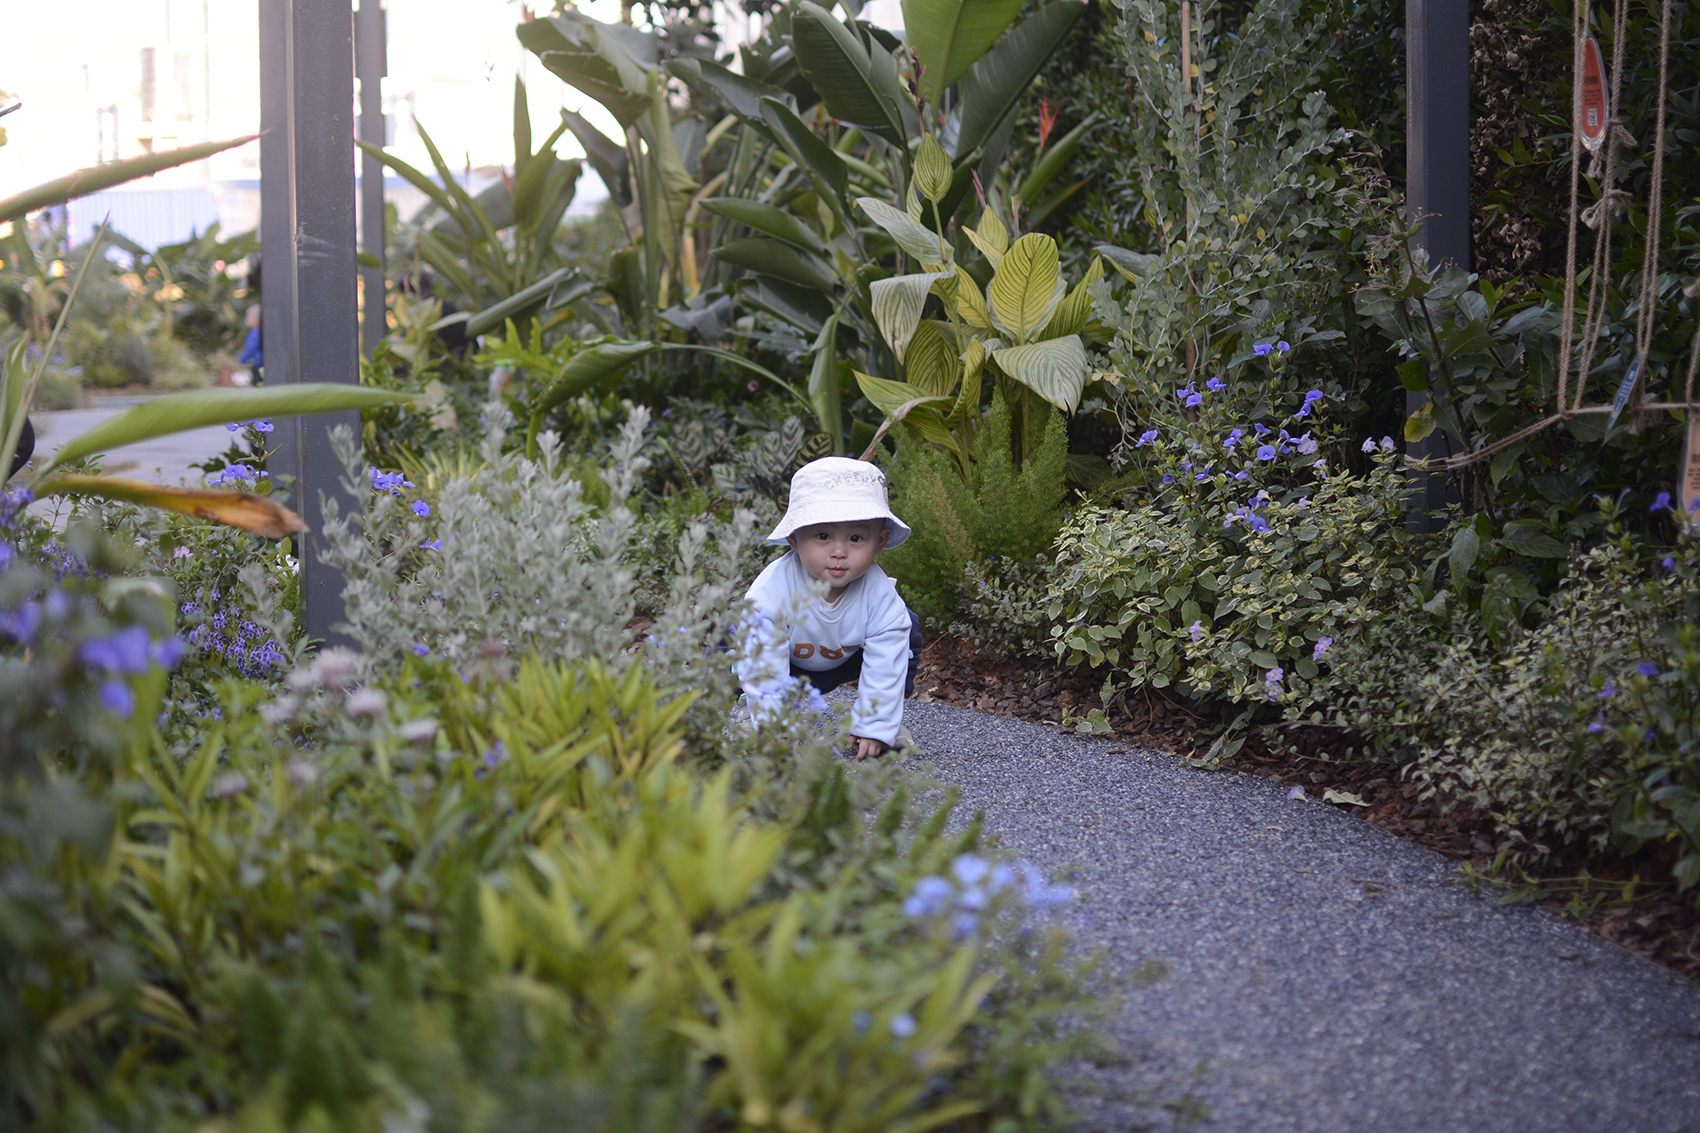
[{"label": "variegated shrub with purple flowers, right of the feathery green bush", "polygon": [[1329,470],[1312,417],[1321,391],[1278,429],[1246,415],[1266,405],[1255,384],[1178,393],[1197,420],[1139,437],[1151,456],[1129,476],[1127,505],[1085,507],[1057,538],[1054,648],[1136,687],[1238,706],[1232,732],[1263,706],[1268,716],[1273,703],[1326,696],[1328,650],[1372,633],[1413,573],[1406,485],[1391,441],[1365,442],[1365,476]]}]

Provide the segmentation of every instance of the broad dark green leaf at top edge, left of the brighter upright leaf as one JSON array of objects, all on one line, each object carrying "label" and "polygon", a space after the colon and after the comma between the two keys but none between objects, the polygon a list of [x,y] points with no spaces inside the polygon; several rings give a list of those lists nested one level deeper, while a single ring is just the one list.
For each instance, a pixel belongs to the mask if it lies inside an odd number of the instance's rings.
[{"label": "broad dark green leaf at top edge, left of the brighter upright leaf", "polygon": [[833,117],[899,146],[916,131],[896,61],[877,46],[869,51],[862,36],[823,7],[809,0],[797,5],[790,43],[804,78],[821,92]]}]

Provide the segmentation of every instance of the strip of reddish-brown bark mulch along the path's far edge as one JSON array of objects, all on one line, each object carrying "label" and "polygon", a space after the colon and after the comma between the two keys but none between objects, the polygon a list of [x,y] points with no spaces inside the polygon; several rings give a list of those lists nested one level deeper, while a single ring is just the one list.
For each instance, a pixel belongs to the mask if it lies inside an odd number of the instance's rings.
[{"label": "strip of reddish-brown bark mulch along the path's far edge", "polygon": [[[1091,709],[1103,709],[1102,684],[1102,672],[1061,669],[1047,658],[998,655],[940,638],[921,653],[915,699],[1073,728]],[[1119,699],[1107,720],[1114,732],[1105,738],[1176,757],[1202,754],[1207,742],[1200,742],[1200,735],[1212,723],[1159,694]],[[1674,886],[1663,881],[1669,869],[1656,856],[1572,861],[1556,866],[1566,876],[1513,878],[1494,861],[1498,842],[1491,817],[1445,796],[1421,798],[1418,784],[1396,766],[1336,762],[1319,757],[1318,750],[1318,738],[1302,732],[1285,735],[1275,747],[1253,738],[1222,766],[1289,788],[1302,786],[1318,801],[1324,791],[1350,794],[1362,805],[1338,803],[1341,808],[1465,863],[1484,886],[1503,890],[1501,902],[1544,905],[1639,956],[1700,978],[1700,912],[1693,895],[1678,897]]]}]

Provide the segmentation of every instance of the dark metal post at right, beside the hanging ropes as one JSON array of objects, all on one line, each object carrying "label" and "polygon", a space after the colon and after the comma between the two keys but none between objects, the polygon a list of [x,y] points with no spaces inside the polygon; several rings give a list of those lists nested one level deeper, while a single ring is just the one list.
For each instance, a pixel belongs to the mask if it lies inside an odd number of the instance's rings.
[{"label": "dark metal post at right, beside the hanging ropes", "polygon": [[[1470,10],[1469,0],[1406,0],[1406,201],[1421,221],[1416,247],[1428,262],[1470,267]],[[1406,415],[1428,400],[1406,393]],[[1408,446],[1409,456],[1442,456],[1438,434]],[[1447,505],[1445,476],[1423,476],[1406,526],[1431,529]]]}]

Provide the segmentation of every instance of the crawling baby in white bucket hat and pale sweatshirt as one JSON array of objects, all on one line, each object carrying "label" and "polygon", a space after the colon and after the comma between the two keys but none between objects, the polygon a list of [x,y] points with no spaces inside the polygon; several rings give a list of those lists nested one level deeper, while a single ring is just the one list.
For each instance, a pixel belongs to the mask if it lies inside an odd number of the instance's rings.
[{"label": "crawling baby in white bucket hat and pale sweatshirt", "polygon": [[[920,619],[874,560],[908,538],[874,464],[828,456],[797,470],[785,517],[767,538],[790,551],[768,563],[746,594],[755,618],[738,675],[758,721],[792,679],[821,692],[857,680],[855,757],[904,745],[903,697],[915,692]],[[811,580],[826,584],[824,597],[814,597]]]}]

